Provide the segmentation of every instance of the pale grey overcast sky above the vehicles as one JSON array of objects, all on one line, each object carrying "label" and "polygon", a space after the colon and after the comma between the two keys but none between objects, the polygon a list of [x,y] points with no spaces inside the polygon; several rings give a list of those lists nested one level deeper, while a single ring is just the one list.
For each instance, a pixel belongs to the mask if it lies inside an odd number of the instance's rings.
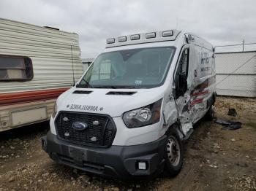
[{"label": "pale grey overcast sky above the vehicles", "polygon": [[0,17],[75,32],[82,58],[94,58],[108,37],[172,28],[214,46],[256,42],[255,7],[255,0],[0,0]]}]

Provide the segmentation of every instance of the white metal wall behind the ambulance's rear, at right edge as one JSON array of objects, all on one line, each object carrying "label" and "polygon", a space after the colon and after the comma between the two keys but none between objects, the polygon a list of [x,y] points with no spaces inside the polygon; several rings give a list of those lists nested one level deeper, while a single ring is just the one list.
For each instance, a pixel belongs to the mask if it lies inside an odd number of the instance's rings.
[{"label": "white metal wall behind the ambulance's rear, at right edge", "polygon": [[215,55],[217,94],[256,97],[256,51]]}]

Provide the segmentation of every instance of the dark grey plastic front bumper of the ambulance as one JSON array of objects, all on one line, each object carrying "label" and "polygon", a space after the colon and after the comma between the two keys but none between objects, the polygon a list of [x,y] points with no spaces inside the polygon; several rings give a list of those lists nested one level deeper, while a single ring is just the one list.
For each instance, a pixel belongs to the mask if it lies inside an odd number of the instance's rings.
[{"label": "dark grey plastic front bumper of the ambulance", "polygon": [[[165,164],[166,136],[148,144],[111,146],[108,148],[84,147],[61,141],[48,132],[42,137],[42,149],[58,163],[103,176],[129,179],[162,172]],[[138,162],[146,163],[146,170],[138,169]]]}]

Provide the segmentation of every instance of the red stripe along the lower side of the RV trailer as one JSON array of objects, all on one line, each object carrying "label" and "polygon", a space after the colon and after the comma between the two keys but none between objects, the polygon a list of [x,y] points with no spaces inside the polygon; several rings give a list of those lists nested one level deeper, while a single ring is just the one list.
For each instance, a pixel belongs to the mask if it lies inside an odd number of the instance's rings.
[{"label": "red stripe along the lower side of the RV trailer", "polygon": [[61,93],[64,93],[68,89],[69,87],[19,93],[0,93],[0,106],[58,98]]}]

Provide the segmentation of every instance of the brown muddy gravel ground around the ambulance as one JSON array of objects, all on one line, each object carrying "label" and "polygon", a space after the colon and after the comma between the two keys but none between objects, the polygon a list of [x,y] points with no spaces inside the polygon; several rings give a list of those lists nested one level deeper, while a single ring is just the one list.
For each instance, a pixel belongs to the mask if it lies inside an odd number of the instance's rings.
[{"label": "brown muddy gravel ground around the ambulance", "polygon": [[[228,108],[238,116],[228,116]],[[48,122],[0,133],[0,191],[256,190],[256,98],[218,97],[215,111],[219,119],[242,122],[242,128],[222,130],[214,122],[199,122],[175,178],[124,182],[59,165],[41,149]]]}]

